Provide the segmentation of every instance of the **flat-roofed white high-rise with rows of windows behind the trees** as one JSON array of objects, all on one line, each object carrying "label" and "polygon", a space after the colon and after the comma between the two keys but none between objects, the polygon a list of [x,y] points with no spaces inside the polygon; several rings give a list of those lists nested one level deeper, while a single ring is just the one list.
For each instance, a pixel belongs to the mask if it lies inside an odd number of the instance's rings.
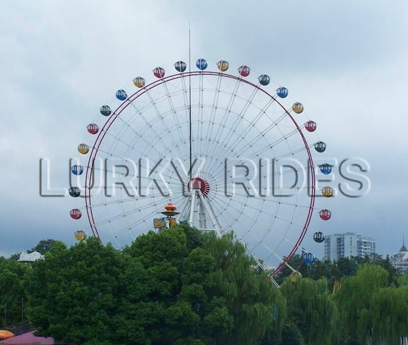
[{"label": "flat-roofed white high-rise with rows of windows behind the trees", "polygon": [[325,260],[338,260],[340,257],[364,257],[375,252],[375,240],[354,233],[328,235],[324,239]]}]

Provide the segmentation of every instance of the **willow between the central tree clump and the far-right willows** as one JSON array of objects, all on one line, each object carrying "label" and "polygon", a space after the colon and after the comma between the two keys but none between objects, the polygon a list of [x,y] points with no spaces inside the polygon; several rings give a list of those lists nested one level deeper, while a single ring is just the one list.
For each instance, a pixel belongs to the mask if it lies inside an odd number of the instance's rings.
[{"label": "willow between the central tree clump and the far-right willows", "polygon": [[300,329],[308,345],[336,344],[340,337],[340,318],[327,289],[327,280],[286,279],[281,286],[287,299],[288,318]]}]

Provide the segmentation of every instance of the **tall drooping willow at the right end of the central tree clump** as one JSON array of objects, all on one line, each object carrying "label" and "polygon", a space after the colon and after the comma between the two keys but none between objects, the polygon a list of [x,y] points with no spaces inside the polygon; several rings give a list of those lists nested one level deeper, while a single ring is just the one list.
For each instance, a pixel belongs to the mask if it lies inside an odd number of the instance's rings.
[{"label": "tall drooping willow at the right end of the central tree clump", "polygon": [[271,329],[280,334],[286,319],[285,299],[266,273],[256,274],[255,259],[234,233],[220,239],[206,234],[202,247],[215,259],[214,289],[224,296],[234,317],[234,328],[219,343],[258,344]]}]

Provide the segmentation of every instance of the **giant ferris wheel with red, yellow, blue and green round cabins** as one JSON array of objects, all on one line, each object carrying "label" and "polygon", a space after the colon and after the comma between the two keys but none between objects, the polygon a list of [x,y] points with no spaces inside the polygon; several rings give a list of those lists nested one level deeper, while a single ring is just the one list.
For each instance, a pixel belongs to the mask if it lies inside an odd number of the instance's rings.
[{"label": "giant ferris wheel with red, yellow, blue and green round cabins", "polygon": [[[101,105],[78,146],[87,162],[71,167],[78,184],[69,194],[85,202],[70,211],[82,222],[75,238],[92,233],[123,248],[186,222],[218,236],[234,231],[273,282],[284,267],[296,277],[296,251],[314,260],[301,246],[312,218],[331,217],[315,203],[334,193],[316,186],[317,169],[331,172],[313,161],[326,144],[312,137],[317,124],[303,105],[287,102],[286,87],[246,65],[213,65],[157,67]],[[311,236],[324,241],[320,231]]]}]

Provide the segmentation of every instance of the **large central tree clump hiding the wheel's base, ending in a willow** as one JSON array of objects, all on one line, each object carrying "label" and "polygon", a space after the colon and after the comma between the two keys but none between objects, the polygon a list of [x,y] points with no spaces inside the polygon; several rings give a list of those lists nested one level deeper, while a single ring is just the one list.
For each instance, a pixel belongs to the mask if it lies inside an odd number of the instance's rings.
[{"label": "large central tree clump hiding the wheel's base, ending in a willow", "polygon": [[233,234],[188,226],[121,252],[94,238],[56,243],[28,274],[29,316],[40,334],[78,344],[257,344],[281,332],[286,305],[253,263]]}]

